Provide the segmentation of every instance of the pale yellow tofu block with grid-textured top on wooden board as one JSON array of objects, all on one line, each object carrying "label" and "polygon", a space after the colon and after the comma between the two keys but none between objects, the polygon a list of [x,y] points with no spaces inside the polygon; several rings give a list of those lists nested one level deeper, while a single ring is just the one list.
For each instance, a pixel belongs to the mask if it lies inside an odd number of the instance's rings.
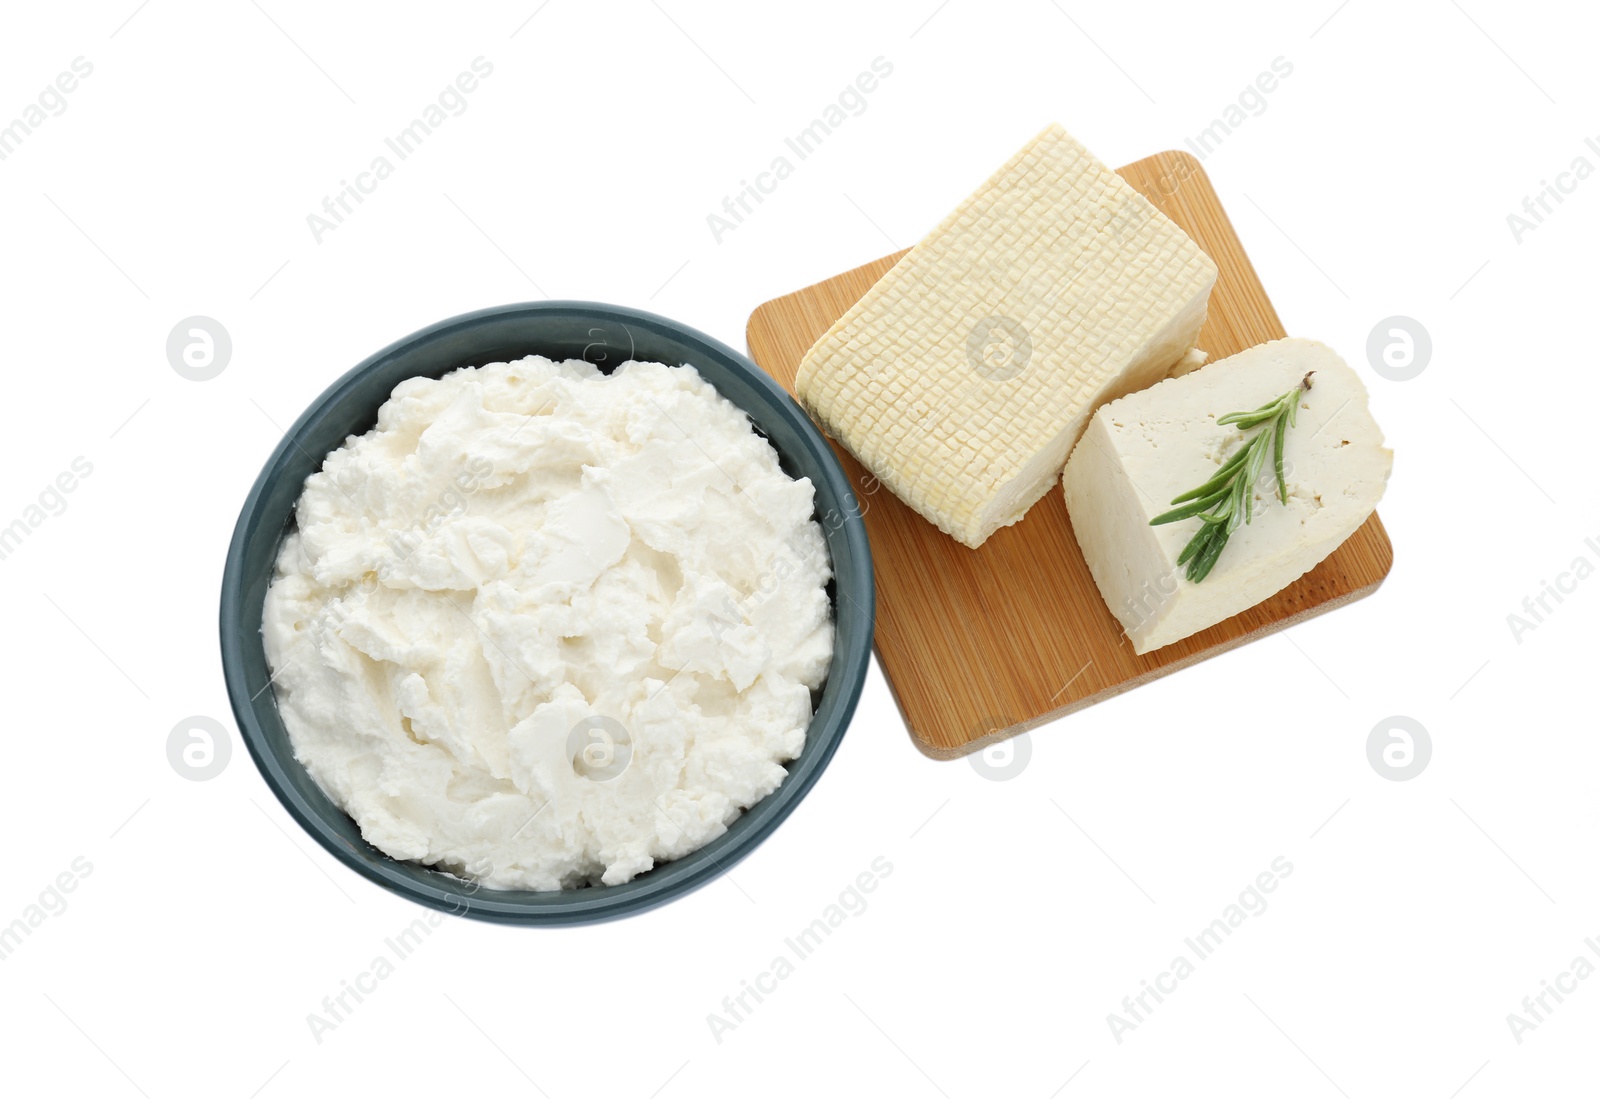
[{"label": "pale yellow tofu block with grid-textured top on wooden board", "polygon": [[1198,245],[1050,126],[816,341],[795,392],[978,547],[1050,491],[1098,405],[1184,357],[1214,282]]}]

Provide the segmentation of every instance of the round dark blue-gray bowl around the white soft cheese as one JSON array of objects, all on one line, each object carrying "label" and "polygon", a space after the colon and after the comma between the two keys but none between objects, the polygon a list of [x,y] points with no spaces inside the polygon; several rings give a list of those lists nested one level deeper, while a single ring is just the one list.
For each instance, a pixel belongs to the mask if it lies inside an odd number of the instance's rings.
[{"label": "round dark blue-gray bowl around the white soft cheese", "polygon": [[[563,893],[477,888],[451,873],[398,862],[362,838],[294,758],[267,689],[261,609],[294,501],[325,454],[378,422],[378,408],[406,378],[438,378],[458,366],[522,358],[586,358],[611,370],[629,358],[691,363],[723,397],[749,413],[790,477],[810,477],[816,514],[834,558],[837,637],[834,662],[800,758],[789,777],[712,843],[662,862],[626,885]],[[872,558],[850,480],[800,406],[744,355],[666,317],[576,301],[499,306],[429,325],[382,349],[336,381],[294,421],[256,478],[234,530],[222,571],[222,675],[234,717],[262,777],[322,846],[371,881],[421,904],[501,923],[594,923],[634,915],[696,889],[750,853],[782,824],[816,782],[856,709],[872,648]]]}]

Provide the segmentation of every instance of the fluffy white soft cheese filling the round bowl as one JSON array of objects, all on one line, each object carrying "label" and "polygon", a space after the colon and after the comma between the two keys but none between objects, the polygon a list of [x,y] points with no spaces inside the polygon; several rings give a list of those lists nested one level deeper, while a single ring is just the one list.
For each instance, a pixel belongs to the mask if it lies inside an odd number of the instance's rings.
[{"label": "fluffy white soft cheese filling the round bowl", "polygon": [[402,382],[307,478],[267,592],[296,757],[374,846],[493,888],[680,857],[805,744],[813,510],[691,366]]}]

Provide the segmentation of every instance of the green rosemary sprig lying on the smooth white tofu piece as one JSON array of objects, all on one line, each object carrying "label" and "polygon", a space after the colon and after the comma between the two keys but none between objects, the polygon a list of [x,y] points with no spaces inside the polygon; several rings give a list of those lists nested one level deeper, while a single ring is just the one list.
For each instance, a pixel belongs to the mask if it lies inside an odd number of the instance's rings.
[{"label": "green rosemary sprig lying on the smooth white tofu piece", "polygon": [[[1310,371],[1310,374],[1315,373]],[[1256,478],[1261,477],[1261,467],[1266,466],[1269,446],[1272,469],[1278,478],[1278,502],[1290,502],[1290,490],[1283,482],[1283,435],[1294,426],[1299,397],[1310,389],[1310,374],[1306,374],[1301,384],[1290,392],[1254,411],[1229,413],[1218,419],[1219,427],[1235,424],[1242,432],[1248,432],[1251,427],[1262,427],[1262,430],[1222,462],[1205,485],[1174,496],[1173,504],[1181,504],[1181,507],[1150,520],[1150,526],[1176,523],[1182,518],[1200,520],[1200,530],[1178,555],[1178,563],[1187,565],[1184,576],[1190,584],[1198,584],[1211,573],[1216,558],[1222,555],[1222,547],[1227,546],[1229,534],[1237,531],[1240,523],[1248,523],[1254,517],[1254,485]]]}]

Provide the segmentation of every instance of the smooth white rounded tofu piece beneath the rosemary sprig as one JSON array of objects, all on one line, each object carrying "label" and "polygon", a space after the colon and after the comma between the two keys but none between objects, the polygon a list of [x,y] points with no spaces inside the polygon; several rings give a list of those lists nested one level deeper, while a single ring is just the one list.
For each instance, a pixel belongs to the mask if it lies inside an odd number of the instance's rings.
[{"label": "smooth white rounded tofu piece beneath the rosemary sprig", "polygon": [[[1227,539],[1210,576],[1184,576],[1178,555],[1198,518],[1150,526],[1171,499],[1205,483],[1261,427],[1216,419],[1259,408],[1315,371],[1285,435],[1288,504],[1267,459],[1254,514]],[[1366,389],[1334,350],[1277,339],[1200,366],[1094,413],[1062,475],[1072,531],[1134,653],[1197,633],[1283,590],[1366,522],[1394,454]]]}]

